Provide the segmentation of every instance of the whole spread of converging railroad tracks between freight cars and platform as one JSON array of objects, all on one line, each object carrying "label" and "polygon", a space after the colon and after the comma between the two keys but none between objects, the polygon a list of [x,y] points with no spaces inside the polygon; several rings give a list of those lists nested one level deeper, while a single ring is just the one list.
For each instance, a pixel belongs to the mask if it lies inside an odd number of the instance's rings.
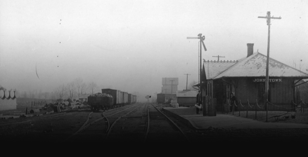
[{"label": "whole spread of converging railroad tracks between freight cars and platform", "polygon": [[189,142],[184,132],[153,104],[91,112],[66,141]]}]

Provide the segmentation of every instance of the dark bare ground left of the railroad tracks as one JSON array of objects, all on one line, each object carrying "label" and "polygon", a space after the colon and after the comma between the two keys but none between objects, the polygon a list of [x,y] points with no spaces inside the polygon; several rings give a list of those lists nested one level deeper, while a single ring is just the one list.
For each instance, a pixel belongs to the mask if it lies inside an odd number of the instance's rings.
[{"label": "dark bare ground left of the railroad tracks", "polygon": [[[54,113],[39,117],[3,119],[0,121],[0,136],[4,141],[61,141],[78,123],[84,123],[90,111]],[[22,119],[22,121],[20,121]],[[6,121],[10,121],[7,123]]]}]

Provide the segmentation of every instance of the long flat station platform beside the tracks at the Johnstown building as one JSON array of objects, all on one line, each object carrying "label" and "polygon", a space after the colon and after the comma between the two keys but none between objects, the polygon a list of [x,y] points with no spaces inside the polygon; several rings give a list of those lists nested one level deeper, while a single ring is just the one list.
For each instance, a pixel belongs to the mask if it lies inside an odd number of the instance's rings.
[{"label": "long flat station platform beside the tracks at the Johnstown building", "polygon": [[216,116],[203,116],[196,114],[196,108],[189,107],[164,107],[163,111],[170,113],[183,123],[196,130],[204,130],[208,128],[219,129],[279,129],[279,128],[308,128],[307,124],[297,123],[266,123],[253,119],[237,117],[233,115],[225,115],[220,112]]}]

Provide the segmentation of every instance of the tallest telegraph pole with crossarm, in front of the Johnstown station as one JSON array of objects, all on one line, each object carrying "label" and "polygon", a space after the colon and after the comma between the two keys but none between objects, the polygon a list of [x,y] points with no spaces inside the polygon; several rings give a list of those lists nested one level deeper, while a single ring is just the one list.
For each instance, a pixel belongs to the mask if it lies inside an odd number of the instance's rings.
[{"label": "tallest telegraph pole with crossarm, in front of the Johnstown station", "polygon": [[[270,59],[270,19],[281,19],[270,17],[270,11],[267,12],[267,15],[265,17],[259,16],[258,18],[266,18],[267,25],[269,26],[268,29],[268,37],[267,37],[267,58],[266,58],[266,75],[265,75],[265,101],[268,100],[268,91],[269,91],[269,59]],[[266,119],[267,120],[267,119]]]}]

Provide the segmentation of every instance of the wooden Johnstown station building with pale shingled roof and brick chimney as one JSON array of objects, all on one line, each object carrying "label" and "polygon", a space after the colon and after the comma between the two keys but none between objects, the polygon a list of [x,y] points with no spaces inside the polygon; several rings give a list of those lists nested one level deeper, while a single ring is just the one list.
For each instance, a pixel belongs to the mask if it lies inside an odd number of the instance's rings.
[{"label": "wooden Johnstown station building with pale shingled roof and brick chimney", "polygon": [[[259,52],[253,53],[253,44],[247,44],[247,56],[237,61],[205,61],[202,75],[203,96],[216,98],[217,111],[226,110],[224,103],[230,100],[233,93],[236,102],[245,106],[265,103],[265,74],[267,56]],[[296,103],[295,87],[299,81],[307,79],[308,74],[288,66],[282,62],[269,59],[269,92],[268,101],[279,107],[269,105],[269,110],[287,110],[281,107],[294,107]],[[194,86],[199,86],[195,84]],[[240,107],[240,106],[239,106]],[[237,107],[236,110],[239,108]],[[246,110],[246,107],[241,107]],[[255,109],[251,109],[255,110]],[[290,109],[289,109],[290,110]]]}]

